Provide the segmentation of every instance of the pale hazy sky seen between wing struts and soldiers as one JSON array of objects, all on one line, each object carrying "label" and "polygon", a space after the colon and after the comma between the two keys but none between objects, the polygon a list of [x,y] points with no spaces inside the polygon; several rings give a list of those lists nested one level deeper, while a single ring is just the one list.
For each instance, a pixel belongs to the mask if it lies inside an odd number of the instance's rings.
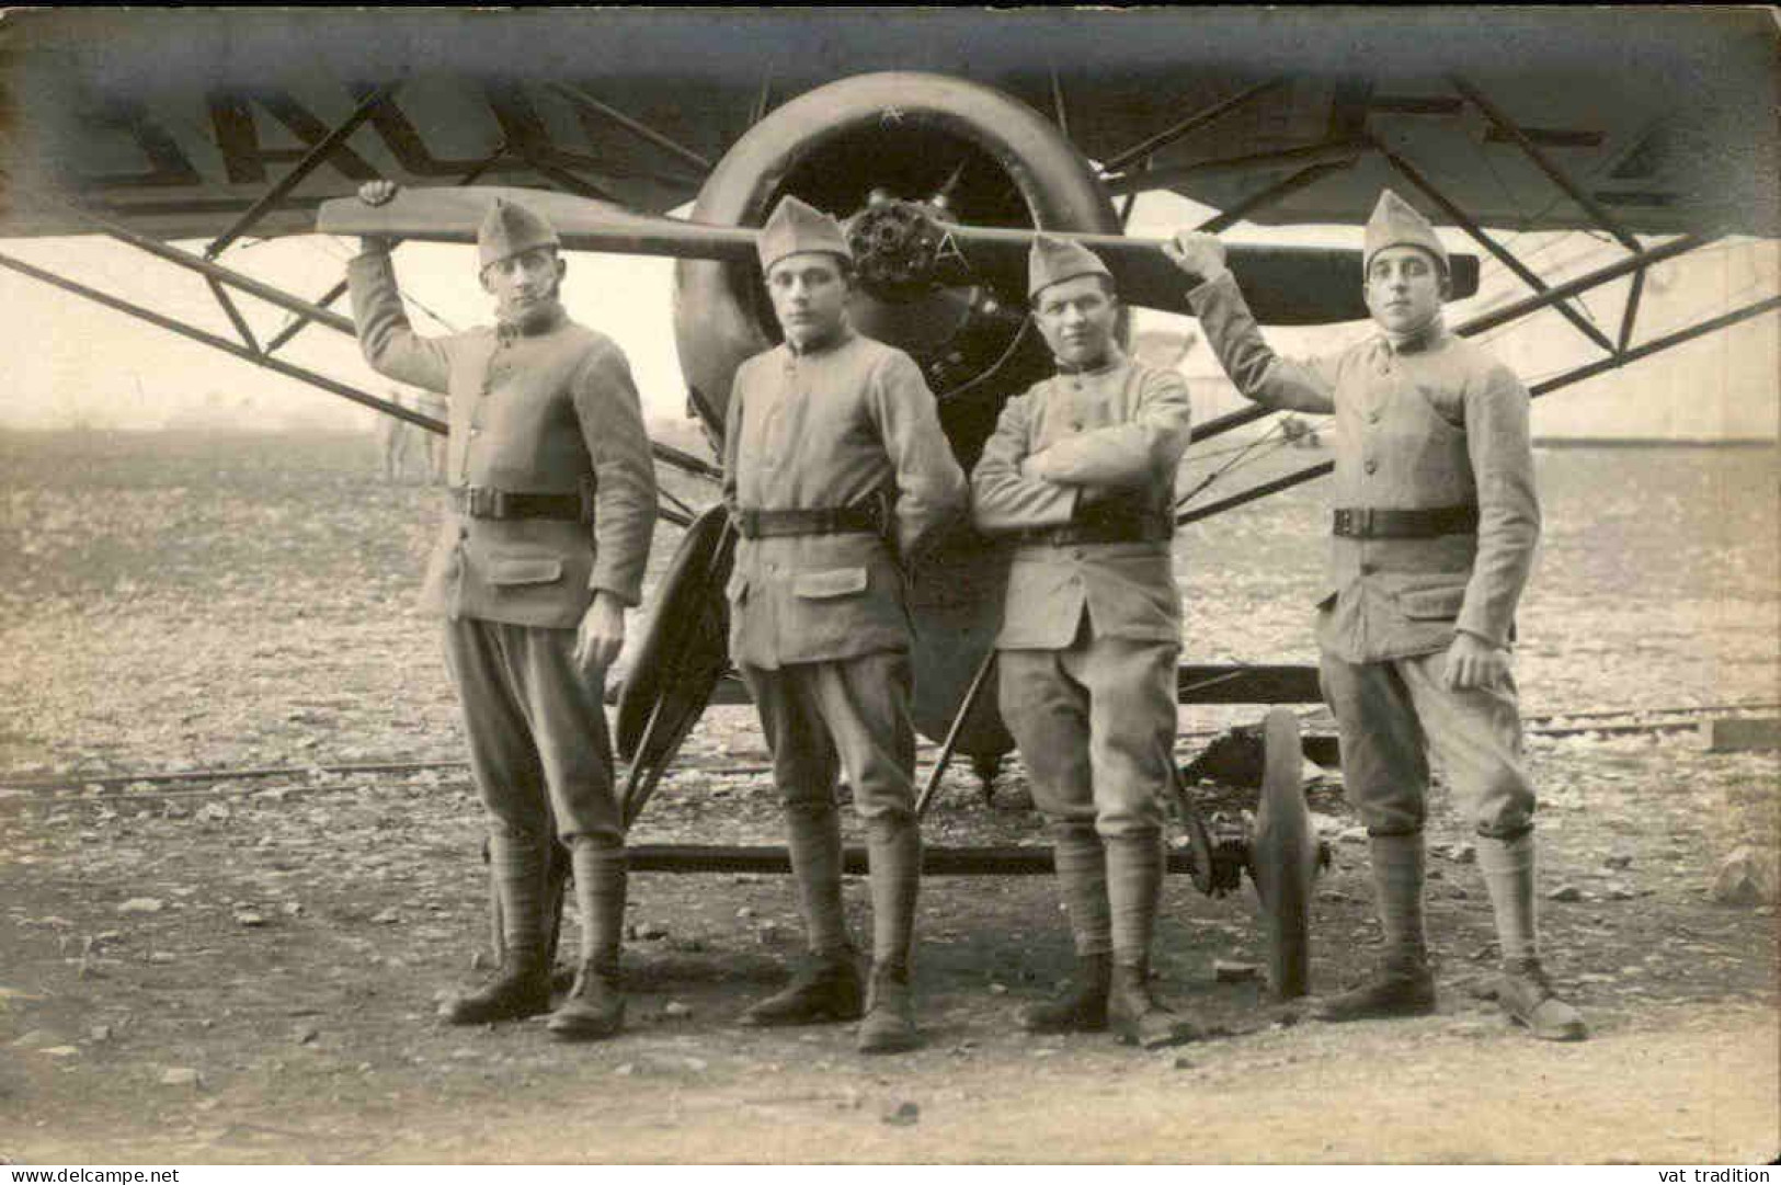
[{"label": "pale hazy sky seen between wing struts and soldiers", "polygon": [[[1147,194],[1138,203],[1131,233],[1167,237],[1206,214],[1202,207],[1174,194]],[[1240,226],[1231,237],[1354,248],[1361,244],[1361,230],[1348,226]],[[1457,232],[1444,232],[1444,237],[1453,249],[1476,251]],[[1503,239],[1514,242],[1514,249],[1532,258],[1535,269],[1548,278],[1599,267],[1617,257],[1614,249],[1603,249],[1580,233]],[[198,249],[201,244],[183,246]],[[226,317],[196,274],[123,244],[107,239],[16,239],[0,242],[0,249],[192,321],[212,333],[233,337]],[[342,276],[344,262],[354,251],[353,241],[303,235],[239,244],[223,262],[296,294],[317,296]],[[1640,337],[1774,292],[1776,258],[1777,244],[1756,242],[1720,251],[1688,267],[1667,269],[1660,283],[1647,289],[1640,314],[1640,326],[1646,328]],[[625,347],[650,417],[680,417],[686,405],[670,324],[671,269],[670,260],[575,253],[570,257],[565,285],[570,312]],[[419,306],[411,306],[411,315],[422,333],[442,333],[447,326],[465,328],[488,317],[488,298],[476,283],[470,248],[404,246],[397,253],[397,274],[404,292],[419,301]],[[1655,290],[1660,287],[1662,292]],[[1517,280],[1485,260],[1484,294],[1471,305],[1482,306],[1492,298],[1519,298],[1523,292]],[[1589,298],[1592,314],[1610,328],[1610,335],[1622,299],[1624,285]],[[262,342],[285,323],[281,310],[246,296],[239,301]],[[344,305],[342,301],[338,308],[344,310]],[[94,428],[157,428],[192,419],[340,428],[370,422],[370,412],[337,396],[11,271],[0,271],[0,306],[9,310],[7,321],[14,333],[11,381],[7,397],[0,403],[0,426],[5,428],[78,422]],[[1776,358],[1781,353],[1776,321],[1770,314],[1667,358],[1640,364],[1631,372],[1596,380],[1542,401],[1537,429],[1555,435],[1774,435]],[[1145,314],[1140,324],[1191,328],[1191,321],[1161,314]],[[1270,339],[1281,349],[1309,353],[1338,347],[1364,331],[1364,324],[1275,330]],[[1532,319],[1494,340],[1492,349],[1530,381],[1598,356],[1557,314]],[[374,394],[386,394],[390,388],[386,380],[365,367],[356,344],[333,330],[312,326],[285,346],[280,356]],[[1197,387],[1202,394],[1218,387],[1204,346],[1190,355],[1184,369],[1190,376],[1206,376]],[[1630,399],[1628,392],[1635,388],[1639,397]],[[1209,410],[1202,408],[1202,415]]]}]

